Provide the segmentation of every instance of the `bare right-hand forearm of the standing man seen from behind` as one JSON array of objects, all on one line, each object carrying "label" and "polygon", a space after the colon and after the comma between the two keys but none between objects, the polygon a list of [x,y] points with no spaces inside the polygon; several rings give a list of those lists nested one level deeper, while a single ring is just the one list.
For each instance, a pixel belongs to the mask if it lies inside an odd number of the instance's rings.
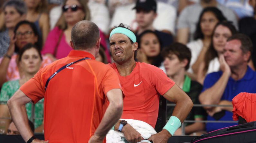
[{"label": "bare right-hand forearm of the standing man seen from behind", "polygon": [[121,117],[123,113],[123,102],[121,103],[109,103],[100,125],[96,129],[94,135],[104,139],[108,131],[113,127]]}]

